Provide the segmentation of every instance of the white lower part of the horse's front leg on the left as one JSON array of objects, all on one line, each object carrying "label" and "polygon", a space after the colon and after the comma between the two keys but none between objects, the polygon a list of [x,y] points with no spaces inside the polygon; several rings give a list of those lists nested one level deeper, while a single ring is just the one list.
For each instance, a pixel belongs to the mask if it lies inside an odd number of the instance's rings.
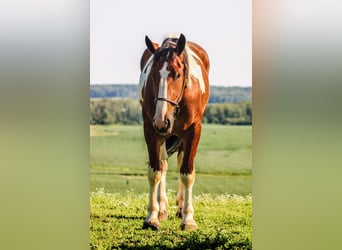
[{"label": "white lower part of the horse's front leg on the left", "polygon": [[161,180],[161,171],[153,171],[153,169],[149,167],[147,177],[150,184],[150,192],[147,206],[148,214],[145,219],[145,223],[155,228],[158,228],[160,224],[158,220],[159,204],[157,201],[157,192],[158,185]]}]

